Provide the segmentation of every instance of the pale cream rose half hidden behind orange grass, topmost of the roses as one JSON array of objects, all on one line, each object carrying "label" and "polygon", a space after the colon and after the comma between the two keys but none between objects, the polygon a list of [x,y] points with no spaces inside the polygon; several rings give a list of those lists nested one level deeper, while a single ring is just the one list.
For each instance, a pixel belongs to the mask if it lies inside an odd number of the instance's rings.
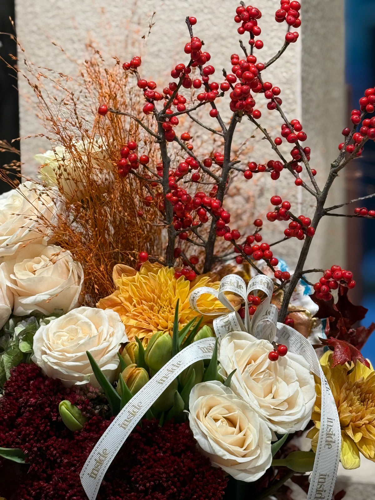
[{"label": "pale cream rose half hidden behind orange grass, topmost of the roses", "polygon": [[93,180],[103,188],[113,177],[112,163],[101,139],[90,143],[74,143],[74,156],[63,147],[35,154],[40,162],[39,175],[50,186],[58,187],[69,201],[77,201],[86,195],[86,177],[83,165],[91,163]]}]

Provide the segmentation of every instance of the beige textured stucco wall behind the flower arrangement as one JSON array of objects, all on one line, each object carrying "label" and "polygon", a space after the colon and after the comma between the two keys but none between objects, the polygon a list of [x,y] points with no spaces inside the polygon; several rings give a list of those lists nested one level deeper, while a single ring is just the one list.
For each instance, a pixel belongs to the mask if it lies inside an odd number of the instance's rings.
[{"label": "beige textured stucco wall behind the flower arrangement", "polygon": [[[283,109],[289,119],[302,120],[304,129],[308,132],[306,145],[312,149],[312,166],[323,178],[329,161],[333,159],[336,144],[339,142],[339,130],[342,128],[344,108],[343,87],[343,33],[342,33],[342,1],[325,0],[302,1],[302,39],[291,44],[283,56],[266,72],[264,78],[281,88],[280,97]],[[141,73],[154,79],[162,86],[170,80],[169,71],[174,64],[185,60],[183,45],[188,40],[184,24],[186,15],[198,18],[194,26],[205,42],[206,49],[211,53],[211,60],[216,72],[214,78],[222,81],[221,68],[230,71],[229,56],[239,53],[237,24],[233,16],[236,0],[197,1],[185,0],[16,0],[16,26],[18,38],[25,48],[23,57],[36,65],[53,68],[69,75],[77,72],[77,64],[83,61],[87,51],[85,43],[94,40],[103,55],[110,60],[116,55],[121,61],[129,60],[132,55],[142,56]],[[278,0],[262,0],[258,2],[262,11],[259,25],[262,28],[261,39],[264,47],[256,51],[258,60],[268,60],[282,45],[285,25],[275,23],[274,12],[279,8]],[[152,12],[154,25],[147,36],[148,24]],[[298,29],[301,31],[301,28]],[[142,39],[142,35],[146,35]],[[245,42],[247,38],[243,36]],[[61,45],[65,54],[52,41]],[[329,43],[328,43],[329,42]],[[66,57],[66,54],[68,57]],[[182,57],[181,57],[182,56]],[[334,93],[331,82],[334,76]],[[33,135],[42,131],[32,107],[32,96],[27,81],[19,76],[20,90],[20,126],[21,136]],[[264,96],[257,96],[256,107],[262,110],[262,124],[272,137],[280,134],[281,119],[277,111],[268,111]],[[321,116],[323,110],[329,116],[329,124],[322,129]],[[224,117],[230,116],[227,102],[219,105]],[[204,121],[212,123],[212,118]],[[250,146],[252,152],[247,161],[267,161],[276,159],[268,143],[261,139],[261,134],[254,130],[251,123],[243,119],[237,127],[238,133],[234,146],[243,141]],[[254,137],[251,137],[254,135]],[[200,142],[204,144],[206,135],[200,134]],[[333,146],[330,146],[333,141]],[[284,141],[285,142],[285,141]],[[21,143],[21,159],[24,163],[24,175],[35,171],[36,163],[33,155],[39,150],[48,148],[48,143],[41,138],[28,138]],[[291,147],[282,144],[281,150],[288,154]],[[333,154],[332,154],[333,149]],[[202,154],[211,151],[208,144],[202,146]],[[279,194],[292,202],[296,214],[311,215],[314,199],[302,188],[296,188],[293,177],[287,171],[281,173],[278,181],[271,181],[269,174],[256,177],[256,182],[246,181],[241,174],[230,186],[232,211],[237,210],[243,229],[252,222],[255,215],[269,210],[269,198]],[[335,187],[337,194],[341,188]],[[340,198],[341,199],[341,198]],[[234,206],[236,208],[234,208]],[[233,208],[232,208],[233,207]],[[234,217],[233,217],[234,218]],[[333,220],[332,220],[333,219]],[[337,255],[334,260],[344,262],[343,241],[344,227],[341,220],[330,217],[321,236],[315,236],[314,250],[311,255],[311,265],[316,265],[324,256],[324,261],[330,265],[331,255]],[[266,240],[282,237],[282,224],[266,224],[264,236]],[[252,227],[252,226],[250,226]],[[322,232],[322,231],[320,231]],[[328,235],[328,238],[326,237]],[[300,242],[295,238],[275,247],[275,251],[287,258],[290,266],[296,261]],[[320,266],[319,265],[319,266]]]}]

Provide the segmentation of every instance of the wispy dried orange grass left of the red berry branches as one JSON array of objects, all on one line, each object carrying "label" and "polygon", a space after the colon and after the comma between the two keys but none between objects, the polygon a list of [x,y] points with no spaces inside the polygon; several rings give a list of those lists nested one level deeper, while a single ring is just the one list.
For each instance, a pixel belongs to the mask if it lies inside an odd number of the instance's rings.
[{"label": "wispy dried orange grass left of the red berry branches", "polygon": [[[119,150],[129,139],[138,144],[139,154],[149,155],[149,165],[158,161],[157,148],[134,120],[97,114],[98,105],[105,102],[108,107],[126,109],[145,119],[141,93],[134,82],[128,82],[118,60],[108,68],[95,51],[73,84],[61,73],[53,79],[40,70],[35,72],[31,65],[27,67],[25,76],[37,97],[39,117],[46,129],[43,135],[52,147],[65,149],[55,169],[63,206],[57,224],[50,229],[55,242],[81,263],[85,303],[92,306],[113,291],[114,264],[135,266],[141,250],[150,255],[161,253],[158,210],[144,203],[147,194],[155,195],[158,185],[151,187],[149,180],[141,178],[148,173],[143,167],[123,178],[116,166]],[[70,186],[77,186],[73,193],[66,188],[66,179]],[[138,216],[139,210],[143,216]]]}]

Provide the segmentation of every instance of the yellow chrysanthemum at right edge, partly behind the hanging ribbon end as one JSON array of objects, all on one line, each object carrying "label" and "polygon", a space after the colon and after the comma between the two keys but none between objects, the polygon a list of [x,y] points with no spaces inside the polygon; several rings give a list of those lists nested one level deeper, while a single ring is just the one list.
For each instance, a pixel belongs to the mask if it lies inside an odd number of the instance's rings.
[{"label": "yellow chrysanthemum at right edge, partly behind the hanging ribbon end", "polygon": [[[341,426],[341,463],[346,469],[359,467],[361,452],[375,461],[375,371],[356,361],[332,368],[332,352],[320,358],[324,375],[331,388]],[[312,449],[316,450],[320,427],[321,390],[316,384],[315,408],[312,413],[315,427],[311,437]]]}]

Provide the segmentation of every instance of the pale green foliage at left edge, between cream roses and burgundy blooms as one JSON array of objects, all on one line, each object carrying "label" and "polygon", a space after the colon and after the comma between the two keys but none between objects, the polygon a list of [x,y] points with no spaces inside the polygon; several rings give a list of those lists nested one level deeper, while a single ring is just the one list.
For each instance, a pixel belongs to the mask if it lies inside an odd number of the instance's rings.
[{"label": "pale green foliage at left edge, between cream roses and burgundy blooms", "polygon": [[28,363],[33,354],[32,341],[39,326],[63,314],[54,309],[53,314],[44,315],[33,311],[27,316],[10,316],[0,330],[0,388],[10,376],[10,369],[19,363]]}]

